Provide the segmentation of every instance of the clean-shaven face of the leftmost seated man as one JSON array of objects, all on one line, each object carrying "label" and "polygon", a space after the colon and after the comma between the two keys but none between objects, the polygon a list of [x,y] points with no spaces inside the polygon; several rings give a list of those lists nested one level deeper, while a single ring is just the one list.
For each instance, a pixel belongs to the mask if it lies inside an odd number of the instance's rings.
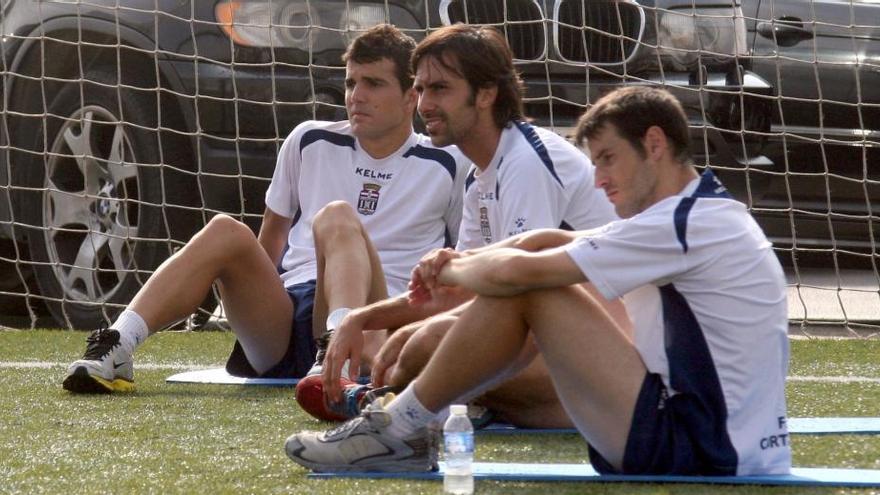
[{"label": "clean-shaven face of the leftmost seated man", "polygon": [[394,62],[383,58],[345,65],[345,110],[358,139],[376,140],[401,127],[409,129],[415,92],[400,88]]}]

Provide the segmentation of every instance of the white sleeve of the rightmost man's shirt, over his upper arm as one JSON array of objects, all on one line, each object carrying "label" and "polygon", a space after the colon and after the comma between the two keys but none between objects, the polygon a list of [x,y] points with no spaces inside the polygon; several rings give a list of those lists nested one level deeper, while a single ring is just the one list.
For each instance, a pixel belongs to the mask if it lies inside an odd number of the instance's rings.
[{"label": "white sleeve of the rightmost man's shirt, over his upper arm", "polygon": [[607,299],[645,284],[663,285],[686,267],[671,214],[668,221],[663,217],[635,216],[584,231],[566,252]]}]

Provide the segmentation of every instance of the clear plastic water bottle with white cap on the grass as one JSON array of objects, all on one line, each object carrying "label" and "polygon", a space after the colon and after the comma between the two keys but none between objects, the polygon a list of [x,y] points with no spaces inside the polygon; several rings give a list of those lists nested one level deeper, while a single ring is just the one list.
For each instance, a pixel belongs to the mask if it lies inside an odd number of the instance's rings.
[{"label": "clear plastic water bottle with white cap on the grass", "polygon": [[449,407],[449,419],[443,425],[446,472],[443,491],[468,495],[474,493],[474,427],[467,417],[467,406]]}]

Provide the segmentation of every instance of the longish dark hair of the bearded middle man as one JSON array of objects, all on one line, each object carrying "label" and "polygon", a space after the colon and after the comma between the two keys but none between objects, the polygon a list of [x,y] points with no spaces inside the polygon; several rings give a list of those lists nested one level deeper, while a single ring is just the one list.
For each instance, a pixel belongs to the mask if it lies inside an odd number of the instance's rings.
[{"label": "longish dark hair of the bearded middle man", "polygon": [[513,67],[513,52],[498,30],[460,23],[442,27],[416,47],[413,72],[425,57],[436,59],[445,69],[465,79],[474,94],[478,89],[497,87],[492,118],[499,128],[506,127],[511,120],[525,118],[523,82]]}]

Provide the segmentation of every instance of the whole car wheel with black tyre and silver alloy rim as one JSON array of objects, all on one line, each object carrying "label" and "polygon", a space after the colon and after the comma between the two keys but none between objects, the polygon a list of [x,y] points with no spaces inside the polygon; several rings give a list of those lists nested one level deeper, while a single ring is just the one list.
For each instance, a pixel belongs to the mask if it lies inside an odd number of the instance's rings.
[{"label": "whole car wheel with black tyre and silver alloy rim", "polygon": [[[156,99],[92,70],[47,106],[45,150],[27,167],[24,214],[34,276],[62,324],[94,328],[170,254],[163,240]],[[149,117],[152,116],[152,117]],[[145,129],[145,127],[147,129]]]}]

